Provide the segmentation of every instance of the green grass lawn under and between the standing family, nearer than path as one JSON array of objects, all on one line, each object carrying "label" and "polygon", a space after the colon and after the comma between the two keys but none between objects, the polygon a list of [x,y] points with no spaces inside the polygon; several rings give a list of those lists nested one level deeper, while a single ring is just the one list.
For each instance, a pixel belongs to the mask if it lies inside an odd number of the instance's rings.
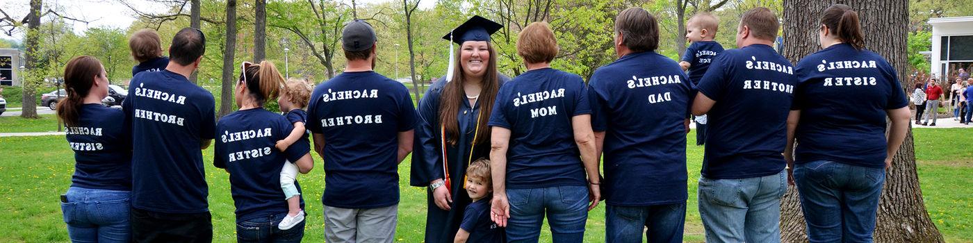
[{"label": "green grass lawn under and between the standing family, nearer than path", "polygon": [[[0,120],[2,122],[2,120]],[[916,132],[919,180],[929,215],[948,242],[973,242],[973,129],[919,128]],[[703,225],[696,203],[696,185],[703,148],[695,146],[689,134],[689,200],[685,241],[702,242]],[[965,148],[963,148],[965,147]],[[203,152],[209,184],[209,209],[213,214],[214,241],[234,242],[234,205],[228,175],[212,166],[212,149]],[[408,187],[409,162],[399,169],[401,202],[396,238],[420,242],[425,226],[425,191]],[[307,218],[305,239],[322,242],[324,226],[321,192],[324,172],[318,166],[300,181],[305,189]],[[70,186],[74,171],[73,153],[63,136],[0,137],[0,242],[66,242],[58,195]],[[604,206],[589,214],[587,242],[602,242]],[[542,230],[542,242],[550,242],[549,230]]]}]

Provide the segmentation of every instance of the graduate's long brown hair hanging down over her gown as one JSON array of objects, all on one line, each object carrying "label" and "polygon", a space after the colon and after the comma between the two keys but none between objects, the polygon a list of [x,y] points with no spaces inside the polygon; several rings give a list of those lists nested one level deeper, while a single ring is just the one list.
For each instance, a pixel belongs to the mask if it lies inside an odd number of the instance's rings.
[{"label": "graduate's long brown hair hanging down over her gown", "polygon": [[[486,43],[486,50],[489,51],[489,63],[486,64],[483,88],[480,89],[480,112],[483,116],[478,116],[476,131],[481,136],[477,136],[473,144],[481,145],[489,143],[489,121],[490,112],[493,111],[493,101],[496,100],[496,92],[500,90],[500,81],[496,72],[496,50],[489,43]],[[463,83],[466,82],[463,76],[463,65],[460,63],[462,48],[456,50],[457,68],[453,69],[452,81],[443,87],[443,94],[439,100],[439,123],[446,128],[446,141],[455,146],[459,141],[459,121],[456,121],[456,114],[459,107],[466,100],[466,92],[463,91]]]}]

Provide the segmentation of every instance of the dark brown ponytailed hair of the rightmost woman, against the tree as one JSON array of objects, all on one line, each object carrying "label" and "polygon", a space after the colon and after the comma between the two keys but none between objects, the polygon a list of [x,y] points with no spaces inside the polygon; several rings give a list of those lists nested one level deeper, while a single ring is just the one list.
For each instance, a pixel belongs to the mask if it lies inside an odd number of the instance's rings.
[{"label": "dark brown ponytailed hair of the rightmost woman, against the tree", "polygon": [[854,49],[865,48],[865,37],[861,33],[861,23],[858,20],[858,13],[851,10],[844,4],[833,4],[824,10],[821,16],[821,24],[828,26],[830,34],[833,34],[850,44]]}]

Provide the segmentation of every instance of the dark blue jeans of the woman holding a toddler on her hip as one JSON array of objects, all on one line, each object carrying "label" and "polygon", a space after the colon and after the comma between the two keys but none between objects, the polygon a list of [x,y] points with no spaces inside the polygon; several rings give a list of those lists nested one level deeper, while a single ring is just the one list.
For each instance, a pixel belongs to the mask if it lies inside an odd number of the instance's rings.
[{"label": "dark blue jeans of the woman holding a toddler on her hip", "polygon": [[280,230],[277,225],[285,216],[287,216],[287,213],[236,223],[236,242],[301,242],[301,239],[304,238],[304,226],[307,221],[302,221],[290,229]]}]

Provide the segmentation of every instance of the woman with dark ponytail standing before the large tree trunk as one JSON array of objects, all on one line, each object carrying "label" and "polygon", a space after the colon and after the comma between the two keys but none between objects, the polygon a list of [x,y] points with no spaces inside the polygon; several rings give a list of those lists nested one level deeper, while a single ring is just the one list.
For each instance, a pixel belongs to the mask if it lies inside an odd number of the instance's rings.
[{"label": "woman with dark ponytail standing before the large tree trunk", "polygon": [[811,242],[871,242],[885,170],[909,129],[908,101],[895,69],[865,49],[855,11],[832,5],[820,23],[823,50],[796,68],[784,152],[790,183]]}]

